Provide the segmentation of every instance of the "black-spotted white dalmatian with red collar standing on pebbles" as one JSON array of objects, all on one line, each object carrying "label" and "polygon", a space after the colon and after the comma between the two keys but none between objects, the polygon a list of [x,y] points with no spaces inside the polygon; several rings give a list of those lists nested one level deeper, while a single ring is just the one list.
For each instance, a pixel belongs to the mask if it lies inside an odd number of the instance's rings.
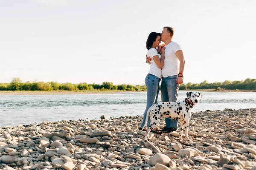
[{"label": "black-spotted white dalmatian with red collar standing on pebbles", "polygon": [[[188,135],[188,126],[189,119],[191,117],[191,110],[193,106],[198,103],[203,94],[198,92],[188,92],[186,94],[187,98],[181,102],[161,102],[154,104],[148,109],[147,117],[145,122],[148,121],[148,116],[150,116],[150,125],[145,133],[145,142],[148,142],[148,133],[157,126],[157,123],[160,121],[161,117],[166,117],[174,120],[180,121],[180,140],[182,140],[183,128],[185,126],[185,137],[186,140],[189,140]],[[142,129],[144,129],[146,123]]]}]

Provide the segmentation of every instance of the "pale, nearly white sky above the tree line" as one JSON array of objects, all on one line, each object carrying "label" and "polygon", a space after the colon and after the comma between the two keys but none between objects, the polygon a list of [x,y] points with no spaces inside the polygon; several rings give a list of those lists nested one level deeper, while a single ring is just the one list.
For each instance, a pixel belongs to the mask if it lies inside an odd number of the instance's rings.
[{"label": "pale, nearly white sky above the tree line", "polygon": [[0,0],[0,82],[143,85],[148,34],[175,29],[184,83],[256,78],[255,0]]}]

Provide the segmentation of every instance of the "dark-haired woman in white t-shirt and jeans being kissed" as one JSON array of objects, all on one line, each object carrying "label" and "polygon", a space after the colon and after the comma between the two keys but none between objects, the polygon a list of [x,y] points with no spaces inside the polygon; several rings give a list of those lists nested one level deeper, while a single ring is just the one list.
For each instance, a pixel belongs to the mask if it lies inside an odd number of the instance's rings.
[{"label": "dark-haired woman in white t-shirt and jeans being kissed", "polygon": [[[153,104],[157,103],[157,97],[159,92],[159,82],[162,77],[163,62],[164,62],[164,52],[165,48],[161,49],[161,55],[157,52],[156,48],[159,47],[161,43],[161,34],[157,32],[151,32],[148,36],[148,40],[146,42],[146,48],[148,49],[148,57],[152,58],[150,68],[148,71],[148,75],[145,78],[145,85],[147,86],[147,106],[144,112],[143,121],[140,125],[139,130],[145,131],[146,129],[142,129],[145,125],[145,119],[147,116],[148,108],[150,108]],[[149,127],[150,118],[148,118],[147,125]],[[161,134],[156,128],[151,130],[153,133]]]}]

